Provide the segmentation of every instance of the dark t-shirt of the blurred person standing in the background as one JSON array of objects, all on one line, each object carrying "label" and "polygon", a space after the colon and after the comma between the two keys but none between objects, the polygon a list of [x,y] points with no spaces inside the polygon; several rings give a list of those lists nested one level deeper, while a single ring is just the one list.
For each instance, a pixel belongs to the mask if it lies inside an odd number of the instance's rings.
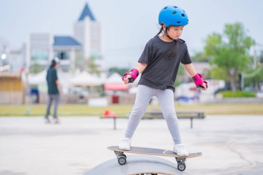
[{"label": "dark t-shirt of the blurred person standing in the background", "polygon": [[48,72],[46,74],[46,82],[48,83],[48,94],[58,94],[59,91],[57,89],[57,70],[55,68],[48,68]]}]

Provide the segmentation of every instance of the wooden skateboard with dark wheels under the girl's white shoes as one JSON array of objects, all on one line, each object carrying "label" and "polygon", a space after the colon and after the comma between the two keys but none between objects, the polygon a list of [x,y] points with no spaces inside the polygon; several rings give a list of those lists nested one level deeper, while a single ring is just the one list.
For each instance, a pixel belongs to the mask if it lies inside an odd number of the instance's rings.
[{"label": "wooden skateboard with dark wheels under the girl's white shoes", "polygon": [[171,150],[167,149],[155,149],[155,148],[147,148],[147,147],[131,147],[131,150],[121,150],[118,149],[117,146],[107,147],[107,149],[114,151],[114,153],[117,156],[118,163],[120,165],[125,165],[127,162],[127,156],[124,154],[125,152],[131,153],[131,154],[147,154],[147,155],[155,155],[155,156],[168,156],[168,157],[174,157],[177,162],[177,169],[179,169],[181,172],[185,170],[185,160],[186,158],[194,158],[197,156],[202,156],[201,152],[196,153],[189,153],[189,156],[178,156],[176,153],[174,153]]}]

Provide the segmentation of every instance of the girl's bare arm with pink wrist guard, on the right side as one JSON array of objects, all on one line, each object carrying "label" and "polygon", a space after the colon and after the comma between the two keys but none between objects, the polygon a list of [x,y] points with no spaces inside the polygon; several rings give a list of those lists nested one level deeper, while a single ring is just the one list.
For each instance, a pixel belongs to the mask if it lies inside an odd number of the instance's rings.
[{"label": "girl's bare arm with pink wrist guard, on the right side", "polygon": [[190,64],[183,64],[185,70],[189,73],[190,77],[194,80],[194,84],[197,85],[197,87],[201,86],[202,90],[208,89],[208,83],[206,81],[203,81],[201,75],[195,71],[194,65],[192,63]]}]

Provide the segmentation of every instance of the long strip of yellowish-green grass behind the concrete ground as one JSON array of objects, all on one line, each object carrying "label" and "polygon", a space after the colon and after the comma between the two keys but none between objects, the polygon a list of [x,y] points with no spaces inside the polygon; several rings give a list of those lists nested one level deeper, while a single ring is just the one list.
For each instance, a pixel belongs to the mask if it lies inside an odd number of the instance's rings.
[{"label": "long strip of yellowish-green grass behind the concrete ground", "polygon": [[[117,116],[127,116],[133,105],[110,105],[89,107],[87,104],[61,104],[58,116],[102,116],[105,110]],[[149,105],[147,110],[159,110],[160,106]],[[262,104],[176,104],[176,111],[204,111],[206,115],[263,115]],[[44,116],[46,104],[0,105],[0,116]],[[52,109],[51,109],[52,111]]]}]

